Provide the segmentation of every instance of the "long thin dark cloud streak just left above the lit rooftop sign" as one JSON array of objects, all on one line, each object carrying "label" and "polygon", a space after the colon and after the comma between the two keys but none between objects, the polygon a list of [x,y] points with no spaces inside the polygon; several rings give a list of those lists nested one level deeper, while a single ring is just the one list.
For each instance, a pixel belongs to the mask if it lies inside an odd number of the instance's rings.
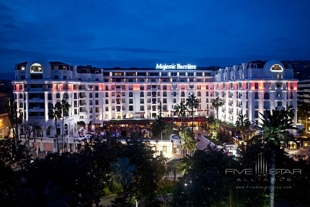
[{"label": "long thin dark cloud streak just left above the lit rooftop sign", "polygon": [[176,51],[170,50],[157,50],[157,49],[146,49],[146,48],[134,48],[134,47],[101,47],[86,49],[83,51],[113,51],[113,52],[141,52],[141,53],[175,53]]}]

